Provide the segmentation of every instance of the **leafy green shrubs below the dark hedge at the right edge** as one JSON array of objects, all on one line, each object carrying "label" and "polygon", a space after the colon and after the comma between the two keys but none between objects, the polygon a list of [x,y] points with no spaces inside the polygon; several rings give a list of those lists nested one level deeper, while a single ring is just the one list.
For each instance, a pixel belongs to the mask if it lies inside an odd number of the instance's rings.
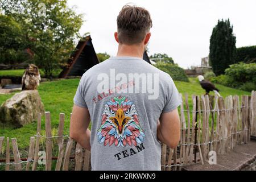
[{"label": "leafy green shrubs below the dark hedge at the right edge", "polygon": [[232,64],[225,75],[213,77],[212,82],[251,92],[256,90],[256,63]]}]

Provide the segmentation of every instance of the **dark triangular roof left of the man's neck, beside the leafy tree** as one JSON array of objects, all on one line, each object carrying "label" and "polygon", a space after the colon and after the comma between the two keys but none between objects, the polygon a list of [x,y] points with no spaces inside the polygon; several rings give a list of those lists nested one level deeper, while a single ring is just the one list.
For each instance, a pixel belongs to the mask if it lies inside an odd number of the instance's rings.
[{"label": "dark triangular roof left of the man's neck, beside the leafy tree", "polygon": [[94,51],[92,38],[86,36],[76,46],[76,51],[68,60],[68,67],[60,73],[60,78],[82,76],[88,69],[100,63]]}]

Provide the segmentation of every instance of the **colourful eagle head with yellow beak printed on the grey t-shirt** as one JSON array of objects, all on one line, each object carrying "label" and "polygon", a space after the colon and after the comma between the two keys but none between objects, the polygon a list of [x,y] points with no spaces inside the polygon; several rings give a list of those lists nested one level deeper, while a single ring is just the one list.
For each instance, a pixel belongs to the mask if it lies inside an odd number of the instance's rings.
[{"label": "colourful eagle head with yellow beak printed on the grey t-shirt", "polygon": [[106,146],[137,146],[144,142],[144,131],[139,125],[137,110],[127,97],[111,98],[104,105],[98,142]]}]

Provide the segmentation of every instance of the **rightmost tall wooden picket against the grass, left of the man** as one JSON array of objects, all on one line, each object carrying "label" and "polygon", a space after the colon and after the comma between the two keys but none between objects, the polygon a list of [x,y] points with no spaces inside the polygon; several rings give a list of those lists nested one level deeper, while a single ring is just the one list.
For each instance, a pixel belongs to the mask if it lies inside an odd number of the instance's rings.
[{"label": "rightmost tall wooden picket against the grass, left of the man", "polygon": [[64,155],[64,139],[63,139],[64,121],[65,121],[65,114],[60,113],[60,123],[59,123],[58,138],[57,138],[59,152],[58,152],[58,159],[57,159],[55,171],[60,171],[61,163]]}]

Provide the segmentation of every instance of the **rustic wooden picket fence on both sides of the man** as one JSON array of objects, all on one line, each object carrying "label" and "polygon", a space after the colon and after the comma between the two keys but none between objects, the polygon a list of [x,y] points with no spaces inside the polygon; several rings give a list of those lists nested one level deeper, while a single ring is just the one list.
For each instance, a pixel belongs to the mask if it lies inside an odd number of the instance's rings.
[{"label": "rustic wooden picket fence on both sides of the man", "polygon": [[[256,137],[256,92],[253,91],[251,96],[242,96],[241,101],[238,96],[225,99],[217,96],[209,98],[208,95],[192,96],[192,108],[189,107],[187,94],[184,98],[180,106],[180,143],[174,149],[162,144],[162,170],[180,170],[193,163],[204,164],[209,159],[210,151],[222,155],[232,151],[237,144],[246,144],[251,136]],[[30,138],[26,159],[20,158],[16,139],[10,141],[7,137],[5,163],[0,162],[0,167],[5,166],[5,170],[10,170],[10,166],[14,166],[15,170],[42,169],[38,168],[38,160],[40,140],[45,138],[44,170],[90,170],[90,152],[63,135],[64,116],[60,114],[59,129],[57,135],[53,136],[50,113],[45,113],[46,135],[41,135],[41,114],[38,114],[37,132]],[[0,154],[4,141],[5,137],[0,137]],[[10,142],[14,161],[10,159]],[[54,144],[58,146],[57,157],[52,156]],[[72,153],[75,156],[72,157]],[[53,160],[56,160],[55,165],[52,165]],[[71,160],[74,162],[71,163]]]}]

